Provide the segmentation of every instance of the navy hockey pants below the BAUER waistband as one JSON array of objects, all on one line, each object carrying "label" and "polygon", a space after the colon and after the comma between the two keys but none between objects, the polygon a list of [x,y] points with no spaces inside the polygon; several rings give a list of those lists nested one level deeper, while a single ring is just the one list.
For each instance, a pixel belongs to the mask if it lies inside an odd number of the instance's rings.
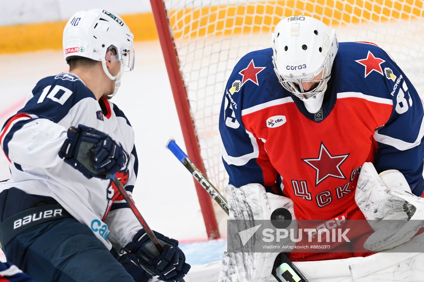
[{"label": "navy hockey pants below the BAUER waistband", "polygon": [[37,282],[134,282],[92,231],[75,218],[46,222],[6,245],[6,258]]}]

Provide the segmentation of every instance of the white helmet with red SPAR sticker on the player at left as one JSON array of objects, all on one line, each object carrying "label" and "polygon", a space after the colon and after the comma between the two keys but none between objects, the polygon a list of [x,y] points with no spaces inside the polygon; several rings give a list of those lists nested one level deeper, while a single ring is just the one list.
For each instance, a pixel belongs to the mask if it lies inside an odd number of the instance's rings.
[{"label": "white helmet with red SPAR sticker on the player at left", "polygon": [[[125,22],[114,13],[102,9],[76,12],[63,30],[63,51],[65,60],[84,57],[101,61],[103,71],[115,80],[116,94],[124,71],[134,69],[134,35]],[[106,54],[116,51],[113,56],[121,62],[121,70],[113,76],[106,67]]]}]

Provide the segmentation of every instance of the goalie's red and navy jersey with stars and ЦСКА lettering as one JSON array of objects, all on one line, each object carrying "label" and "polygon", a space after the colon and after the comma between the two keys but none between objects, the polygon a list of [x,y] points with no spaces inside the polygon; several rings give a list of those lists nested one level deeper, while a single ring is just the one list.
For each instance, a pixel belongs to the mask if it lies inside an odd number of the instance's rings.
[{"label": "goalie's red and navy jersey with stars and \u0426\u0421\u041a\u0410 lettering", "polygon": [[[219,129],[230,184],[260,183],[284,194],[293,200],[297,219],[364,219],[354,195],[365,162],[378,172],[401,171],[413,194],[422,194],[423,104],[385,51],[340,43],[315,114],[280,85],[272,54],[270,48],[245,55],[226,86]],[[291,258],[358,255],[352,250]]]}]

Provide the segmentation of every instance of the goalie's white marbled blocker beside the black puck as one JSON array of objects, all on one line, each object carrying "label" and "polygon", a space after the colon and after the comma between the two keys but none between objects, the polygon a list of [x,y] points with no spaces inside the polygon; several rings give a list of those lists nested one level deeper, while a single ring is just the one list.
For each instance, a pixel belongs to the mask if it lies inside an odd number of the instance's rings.
[{"label": "goalie's white marbled blocker beside the black puck", "polygon": [[[287,228],[296,228],[296,218],[293,213],[293,201],[284,196],[266,193],[260,184],[248,184],[240,188],[232,185],[226,187],[226,196],[230,209],[230,220],[249,221],[255,226],[255,220],[271,219],[271,213],[283,207],[290,211],[292,224]],[[294,222],[293,222],[294,221]],[[241,224],[240,229],[246,228]],[[228,238],[229,244],[232,239]],[[250,244],[250,245],[249,245]],[[251,252],[226,252],[220,271],[220,282],[265,282],[272,277],[271,271],[278,252],[253,252],[253,245],[246,243]],[[250,249],[249,249],[250,250]]]}]

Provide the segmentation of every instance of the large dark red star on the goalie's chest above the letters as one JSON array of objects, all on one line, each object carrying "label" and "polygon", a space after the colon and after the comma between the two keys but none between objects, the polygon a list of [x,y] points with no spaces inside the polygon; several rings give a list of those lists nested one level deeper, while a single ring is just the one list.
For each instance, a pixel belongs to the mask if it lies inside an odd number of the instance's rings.
[{"label": "large dark red star on the goalie's chest above the letters", "polygon": [[349,154],[333,156],[328,152],[324,143],[321,142],[321,148],[318,158],[302,159],[305,163],[312,166],[317,171],[315,186],[327,177],[336,177],[346,179],[340,170],[340,165],[346,160]]}]

